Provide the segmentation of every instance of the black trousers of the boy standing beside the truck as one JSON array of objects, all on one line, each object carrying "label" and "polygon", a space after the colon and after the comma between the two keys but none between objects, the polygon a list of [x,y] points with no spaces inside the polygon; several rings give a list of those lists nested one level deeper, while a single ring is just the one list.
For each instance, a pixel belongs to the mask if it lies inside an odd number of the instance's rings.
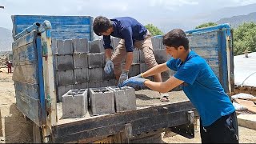
[{"label": "black trousers of the boy standing beside the truck", "polygon": [[218,118],[210,126],[202,126],[200,118],[202,143],[238,143],[238,120],[234,113]]}]

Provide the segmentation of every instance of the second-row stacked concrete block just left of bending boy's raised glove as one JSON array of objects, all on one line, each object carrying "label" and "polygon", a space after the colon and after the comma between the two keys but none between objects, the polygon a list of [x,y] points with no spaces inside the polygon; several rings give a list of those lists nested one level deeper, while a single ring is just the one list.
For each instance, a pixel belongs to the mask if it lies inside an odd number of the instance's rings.
[{"label": "second-row stacked concrete block just left of bending boy's raised glove", "polygon": [[88,67],[95,68],[95,67],[102,67],[102,53],[94,53],[94,54],[87,54],[88,57]]}]

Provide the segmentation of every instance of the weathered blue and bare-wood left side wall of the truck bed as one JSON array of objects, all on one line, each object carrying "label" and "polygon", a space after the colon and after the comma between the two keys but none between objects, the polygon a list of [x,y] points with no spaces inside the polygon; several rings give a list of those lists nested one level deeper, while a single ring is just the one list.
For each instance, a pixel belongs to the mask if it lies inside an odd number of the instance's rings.
[{"label": "weathered blue and bare-wood left side wall of the truck bed", "polygon": [[13,42],[13,80],[18,110],[41,126],[42,109],[40,104],[42,102],[39,94],[41,90],[39,90],[38,69],[40,68],[38,67],[37,37],[37,32],[31,32]]}]

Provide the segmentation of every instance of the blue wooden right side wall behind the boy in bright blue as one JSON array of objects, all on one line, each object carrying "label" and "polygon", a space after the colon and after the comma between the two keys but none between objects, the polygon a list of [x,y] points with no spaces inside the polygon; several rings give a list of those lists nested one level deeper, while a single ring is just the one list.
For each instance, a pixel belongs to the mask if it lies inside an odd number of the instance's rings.
[{"label": "blue wooden right side wall behind the boy in bright blue", "polygon": [[[198,53],[210,65],[214,74],[217,75],[225,92],[229,91],[227,37],[230,36],[230,25],[222,24],[198,30],[186,31],[190,40],[190,49]],[[233,58],[233,53],[230,54]],[[234,67],[230,66],[230,73]]]}]

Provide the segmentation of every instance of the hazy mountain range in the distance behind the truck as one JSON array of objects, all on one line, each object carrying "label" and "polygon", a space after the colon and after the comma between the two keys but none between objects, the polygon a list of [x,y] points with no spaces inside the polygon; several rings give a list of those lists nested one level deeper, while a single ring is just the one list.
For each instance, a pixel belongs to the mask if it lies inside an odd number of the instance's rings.
[{"label": "hazy mountain range in the distance behind the truck", "polygon": [[[166,33],[174,28],[192,30],[206,22],[230,23],[233,28],[242,24],[242,22],[256,22],[256,3],[246,6],[226,7],[183,18],[157,18],[153,24]],[[0,51],[10,51],[12,42],[11,30],[0,27]]]}]

